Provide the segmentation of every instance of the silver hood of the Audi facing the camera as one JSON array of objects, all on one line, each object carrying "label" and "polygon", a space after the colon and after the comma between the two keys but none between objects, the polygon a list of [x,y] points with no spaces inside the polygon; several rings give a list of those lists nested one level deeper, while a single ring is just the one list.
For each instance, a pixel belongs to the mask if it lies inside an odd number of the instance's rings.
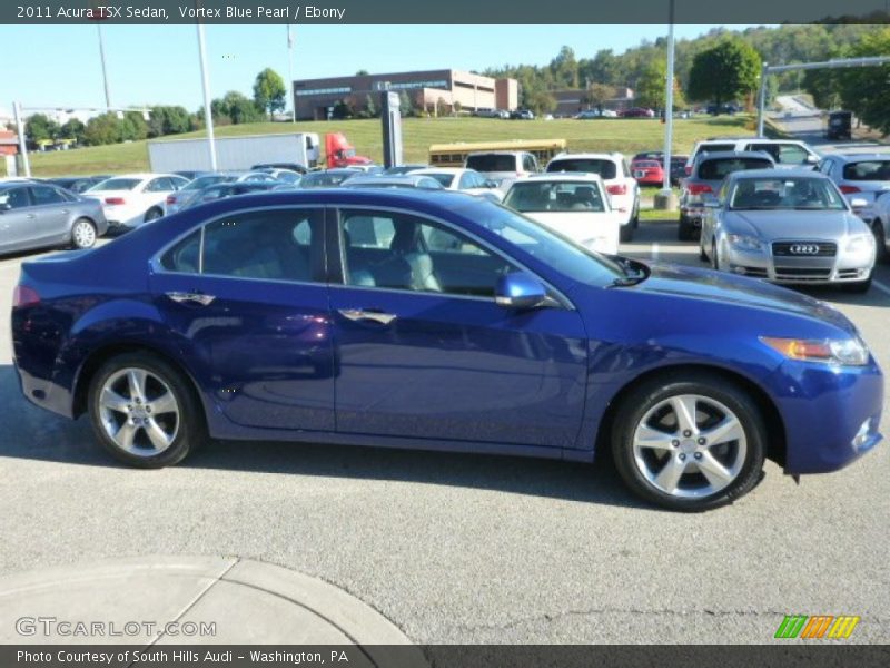
[{"label": "silver hood of the Audi facing the camera", "polygon": [[840,239],[867,232],[864,223],[847,210],[754,210],[728,212],[726,232],[754,235],[759,239]]}]

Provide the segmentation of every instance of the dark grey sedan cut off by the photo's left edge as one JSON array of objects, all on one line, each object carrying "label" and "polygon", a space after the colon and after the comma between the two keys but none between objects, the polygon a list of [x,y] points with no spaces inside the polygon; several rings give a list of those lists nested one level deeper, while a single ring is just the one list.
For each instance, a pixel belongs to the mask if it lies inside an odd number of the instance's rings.
[{"label": "dark grey sedan cut off by the photo's left edge", "polygon": [[0,254],[48,246],[90,248],[108,232],[98,199],[49,184],[0,184]]}]

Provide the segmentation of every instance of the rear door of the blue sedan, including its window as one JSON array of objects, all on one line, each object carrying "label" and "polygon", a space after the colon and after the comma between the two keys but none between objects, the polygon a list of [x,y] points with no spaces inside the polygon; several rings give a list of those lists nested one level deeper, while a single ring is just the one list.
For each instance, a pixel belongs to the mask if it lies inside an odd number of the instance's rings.
[{"label": "rear door of the blue sedan, including its window", "polygon": [[229,433],[334,431],[324,209],[244,210],[155,263],[150,284]]}]

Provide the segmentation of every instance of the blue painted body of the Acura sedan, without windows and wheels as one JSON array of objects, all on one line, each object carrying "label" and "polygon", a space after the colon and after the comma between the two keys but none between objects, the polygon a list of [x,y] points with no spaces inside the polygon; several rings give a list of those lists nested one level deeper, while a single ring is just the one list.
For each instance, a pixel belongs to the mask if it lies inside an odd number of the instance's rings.
[{"label": "blue painted body of the Acura sedan, without windows and wheels", "polygon": [[[205,220],[264,207],[325,212],[326,265],[290,283],[165,271],[158,255]],[[346,285],[338,207],[408,210],[458,227],[521,264],[558,304]],[[77,418],[101,360],[152,351],[181,369],[209,434],[592,461],[621,396],[665,370],[710,370],[745,387],[787,473],[839,469],[870,450],[883,405],[874,360],[792,361],[762,336],[857,337],[811,297],[711,271],[652,264],[634,285],[578,281],[477,220],[498,205],[459,194],[307,190],[249,195],[154,222],[89,252],[24,263],[39,303],[13,308],[24,395]],[[180,304],[176,292],[214,295]],[[356,323],[348,310],[397,314]],[[863,432],[863,424],[866,425]]]}]

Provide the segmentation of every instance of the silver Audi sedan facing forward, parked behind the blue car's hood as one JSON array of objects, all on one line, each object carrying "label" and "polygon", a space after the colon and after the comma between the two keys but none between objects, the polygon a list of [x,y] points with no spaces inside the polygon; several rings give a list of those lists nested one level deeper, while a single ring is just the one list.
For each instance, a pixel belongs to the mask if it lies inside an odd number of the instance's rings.
[{"label": "silver Audi sedan facing forward, parked behind the blue car's hood", "polygon": [[738,171],[705,200],[700,253],[719,271],[866,292],[874,235],[824,175]]}]

